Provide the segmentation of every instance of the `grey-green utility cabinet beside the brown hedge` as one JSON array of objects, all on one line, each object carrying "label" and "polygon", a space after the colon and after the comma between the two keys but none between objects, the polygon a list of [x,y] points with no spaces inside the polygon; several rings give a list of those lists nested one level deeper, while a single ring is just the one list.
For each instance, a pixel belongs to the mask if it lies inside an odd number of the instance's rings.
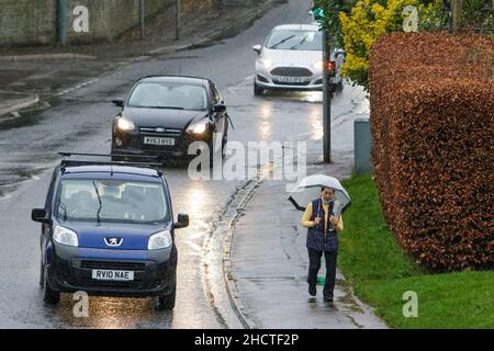
[{"label": "grey-green utility cabinet beside the brown hedge", "polygon": [[370,133],[369,118],[357,118],[353,122],[353,152],[355,172],[357,174],[372,173],[371,162],[372,136]]}]

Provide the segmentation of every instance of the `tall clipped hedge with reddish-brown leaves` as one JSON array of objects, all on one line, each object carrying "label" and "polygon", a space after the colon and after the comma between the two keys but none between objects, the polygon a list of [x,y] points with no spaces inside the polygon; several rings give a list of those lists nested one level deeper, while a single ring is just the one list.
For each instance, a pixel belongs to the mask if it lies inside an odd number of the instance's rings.
[{"label": "tall clipped hedge with reddish-brown leaves", "polygon": [[431,271],[494,268],[494,41],[393,33],[370,55],[385,219]]}]

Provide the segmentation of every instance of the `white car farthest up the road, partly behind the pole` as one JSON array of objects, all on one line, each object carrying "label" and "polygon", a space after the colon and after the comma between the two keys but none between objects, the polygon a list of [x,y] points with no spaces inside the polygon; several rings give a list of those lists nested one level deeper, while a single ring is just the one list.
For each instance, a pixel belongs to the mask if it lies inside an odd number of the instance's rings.
[{"label": "white car farthest up the road, partly behind the pole", "polygon": [[[323,38],[314,24],[283,24],[276,26],[265,45],[255,45],[258,54],[254,93],[265,89],[313,91],[323,90]],[[334,49],[330,60],[336,63],[336,76],[330,84],[341,84],[340,68],[344,52]]]}]

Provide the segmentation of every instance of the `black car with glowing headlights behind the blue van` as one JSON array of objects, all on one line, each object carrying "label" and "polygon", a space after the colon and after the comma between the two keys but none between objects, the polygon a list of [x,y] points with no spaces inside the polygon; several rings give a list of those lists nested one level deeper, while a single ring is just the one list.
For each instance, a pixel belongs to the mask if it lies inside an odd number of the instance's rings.
[{"label": "black car with glowing headlights behind the blue van", "polygon": [[[204,78],[153,76],[138,80],[112,127],[112,154],[153,155],[188,160],[189,145],[205,141],[223,150],[229,117],[214,83]],[[213,145],[213,134],[221,137]],[[214,146],[214,147],[213,147]]]}]

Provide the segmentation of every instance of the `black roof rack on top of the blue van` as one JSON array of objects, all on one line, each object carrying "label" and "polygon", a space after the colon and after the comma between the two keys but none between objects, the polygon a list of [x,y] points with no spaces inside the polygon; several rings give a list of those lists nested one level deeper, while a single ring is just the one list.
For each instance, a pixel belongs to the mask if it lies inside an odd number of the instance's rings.
[{"label": "black roof rack on top of the blue van", "polygon": [[[65,172],[66,167],[77,167],[77,166],[130,166],[130,167],[142,167],[151,168],[157,171],[159,176],[162,176],[162,171],[159,169],[162,165],[159,162],[137,162],[137,161],[100,161],[100,160],[85,160],[85,159],[68,159],[72,156],[83,156],[83,157],[123,157],[126,159],[151,159],[157,160],[158,156],[145,156],[145,155],[124,155],[124,154],[81,154],[81,152],[58,152],[61,156],[60,169]],[[113,173],[113,168],[111,170]]]}]

